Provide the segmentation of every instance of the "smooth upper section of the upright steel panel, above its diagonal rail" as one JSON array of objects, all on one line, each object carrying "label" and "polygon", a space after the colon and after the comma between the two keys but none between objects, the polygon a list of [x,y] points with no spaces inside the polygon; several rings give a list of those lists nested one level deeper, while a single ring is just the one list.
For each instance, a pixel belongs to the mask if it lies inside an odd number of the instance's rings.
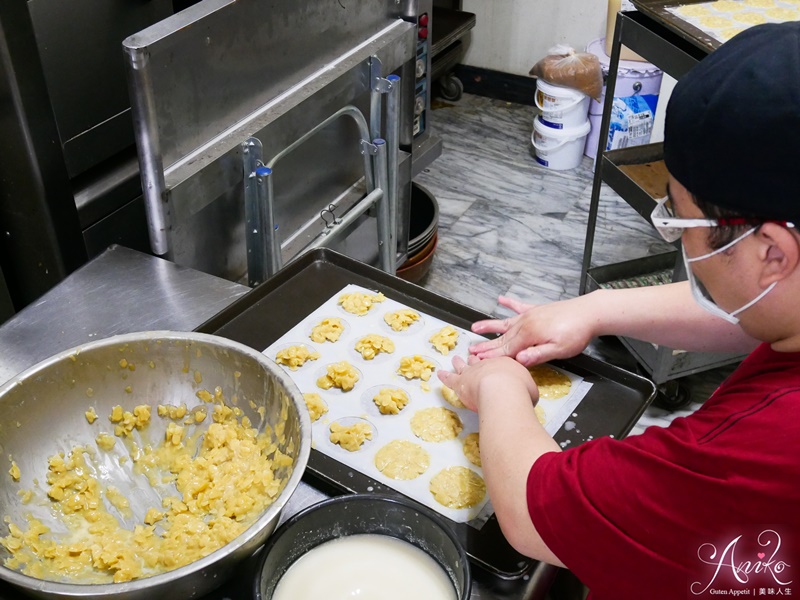
[{"label": "smooth upper section of the upright steel panel, above its diagonal rail", "polygon": [[330,0],[204,0],[127,38],[129,63],[149,72],[157,97],[164,165],[292,86],[335,70],[332,61],[351,54],[354,41],[397,21],[388,6],[386,0],[342,2],[338,10]]}]

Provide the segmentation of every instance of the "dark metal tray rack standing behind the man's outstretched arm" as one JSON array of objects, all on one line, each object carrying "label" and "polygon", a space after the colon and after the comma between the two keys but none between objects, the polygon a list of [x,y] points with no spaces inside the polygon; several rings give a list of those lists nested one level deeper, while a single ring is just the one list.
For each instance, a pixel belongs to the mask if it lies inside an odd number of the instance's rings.
[{"label": "dark metal tray rack standing behind the man's outstretched arm", "polygon": [[[583,265],[581,270],[580,293],[599,287],[609,287],[609,282],[621,279],[641,279],[653,271],[671,269],[672,281],[686,278],[682,260],[678,252],[651,256],[624,263],[592,268],[592,248],[597,225],[600,189],[606,183],[619,194],[642,218],[650,221],[650,213],[656,202],[652,190],[632,177],[628,165],[641,165],[663,161],[663,145],[648,144],[621,150],[606,151],[608,129],[611,120],[612,102],[617,80],[617,69],[621,46],[626,46],[646,60],[652,62],[665,73],[679,79],[697,62],[702,60],[713,48],[704,44],[674,24],[660,20],[653,11],[656,4],[648,1],[645,6],[634,3],[640,11],[617,14],[614,41],[606,82],[606,99],[600,126],[597,149],[597,165],[592,185],[592,198],[586,231]],[[663,2],[658,6],[663,8]],[[644,10],[641,10],[644,9]],[[655,346],[630,338],[621,338],[623,344],[634,355],[637,362],[649,373],[653,381],[661,385],[667,381],[705,371],[741,360],[742,356],[731,354],[694,353]]]}]

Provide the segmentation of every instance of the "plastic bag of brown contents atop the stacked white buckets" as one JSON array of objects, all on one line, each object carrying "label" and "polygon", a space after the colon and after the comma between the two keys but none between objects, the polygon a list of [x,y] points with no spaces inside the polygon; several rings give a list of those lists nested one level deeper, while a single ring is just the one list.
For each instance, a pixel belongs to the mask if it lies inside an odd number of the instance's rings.
[{"label": "plastic bag of brown contents atop the stacked white buckets", "polygon": [[547,56],[533,65],[529,74],[548,83],[571,87],[597,101],[603,93],[600,59],[589,52],[575,52],[569,46],[550,48]]}]

